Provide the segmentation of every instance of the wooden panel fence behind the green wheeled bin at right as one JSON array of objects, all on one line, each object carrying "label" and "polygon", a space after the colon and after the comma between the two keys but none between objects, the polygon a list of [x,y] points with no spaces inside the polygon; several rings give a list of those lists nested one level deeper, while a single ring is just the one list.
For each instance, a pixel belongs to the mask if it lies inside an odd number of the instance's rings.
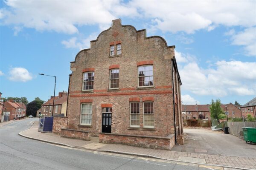
[{"label": "wooden panel fence behind the green wheeled bin at right", "polygon": [[256,127],[256,121],[251,122],[227,122],[229,133],[239,136],[239,131],[243,131],[242,127]]}]

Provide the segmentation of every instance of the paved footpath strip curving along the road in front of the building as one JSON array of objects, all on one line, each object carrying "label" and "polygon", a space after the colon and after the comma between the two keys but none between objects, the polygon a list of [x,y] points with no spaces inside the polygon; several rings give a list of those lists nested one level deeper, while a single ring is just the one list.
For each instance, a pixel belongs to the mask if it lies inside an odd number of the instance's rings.
[{"label": "paved footpath strip curving along the road in front of the building", "polygon": [[[35,128],[36,127],[36,128]],[[192,163],[206,163],[210,165],[240,167],[244,169],[256,169],[256,155],[250,157],[239,156],[222,156],[217,154],[195,153],[195,148],[189,148],[193,152],[180,152],[170,150],[157,150],[143,147],[134,147],[121,144],[101,144],[98,137],[91,137],[91,141],[83,141],[79,139],[63,138],[55,133],[38,132],[38,125],[35,123],[32,128],[21,132],[22,135],[44,140],[45,142],[56,142],[66,144],[70,147],[78,147],[82,149],[97,150],[112,153],[122,153],[137,156],[152,157],[158,159],[166,159],[172,161],[184,161]],[[195,138],[202,139],[202,138]],[[193,140],[195,141],[195,140]],[[197,151],[205,151],[199,149]],[[187,149],[188,150],[188,149]],[[208,151],[208,150],[207,150]],[[255,153],[254,153],[255,154]],[[175,167],[177,169],[177,167]],[[198,167],[197,167],[198,168]],[[204,169],[204,168],[201,168]]]}]

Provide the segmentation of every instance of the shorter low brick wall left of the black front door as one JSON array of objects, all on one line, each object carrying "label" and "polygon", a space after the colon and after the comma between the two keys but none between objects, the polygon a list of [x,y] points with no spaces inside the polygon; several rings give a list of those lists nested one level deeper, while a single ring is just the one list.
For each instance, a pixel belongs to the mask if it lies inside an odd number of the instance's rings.
[{"label": "shorter low brick wall left of the black front door", "polygon": [[90,141],[90,132],[84,130],[61,128],[61,137]]}]

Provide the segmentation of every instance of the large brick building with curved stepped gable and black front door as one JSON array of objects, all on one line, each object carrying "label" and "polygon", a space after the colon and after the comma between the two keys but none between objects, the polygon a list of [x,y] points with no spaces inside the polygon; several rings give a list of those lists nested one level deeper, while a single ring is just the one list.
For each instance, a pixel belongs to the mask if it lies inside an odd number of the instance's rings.
[{"label": "large brick building with curved stepped gable and black front door", "polygon": [[174,48],[113,20],[71,62],[68,129],[103,143],[170,149],[183,132]]}]

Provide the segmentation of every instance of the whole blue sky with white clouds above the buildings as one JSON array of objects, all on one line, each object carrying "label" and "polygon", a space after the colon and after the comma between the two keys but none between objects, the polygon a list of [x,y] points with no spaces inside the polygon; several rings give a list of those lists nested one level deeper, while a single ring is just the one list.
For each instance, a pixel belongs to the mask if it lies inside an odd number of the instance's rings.
[{"label": "whole blue sky with white clouds above the buildings", "polygon": [[68,91],[70,62],[120,18],[175,45],[182,103],[256,97],[256,1],[0,1],[2,97]]}]

